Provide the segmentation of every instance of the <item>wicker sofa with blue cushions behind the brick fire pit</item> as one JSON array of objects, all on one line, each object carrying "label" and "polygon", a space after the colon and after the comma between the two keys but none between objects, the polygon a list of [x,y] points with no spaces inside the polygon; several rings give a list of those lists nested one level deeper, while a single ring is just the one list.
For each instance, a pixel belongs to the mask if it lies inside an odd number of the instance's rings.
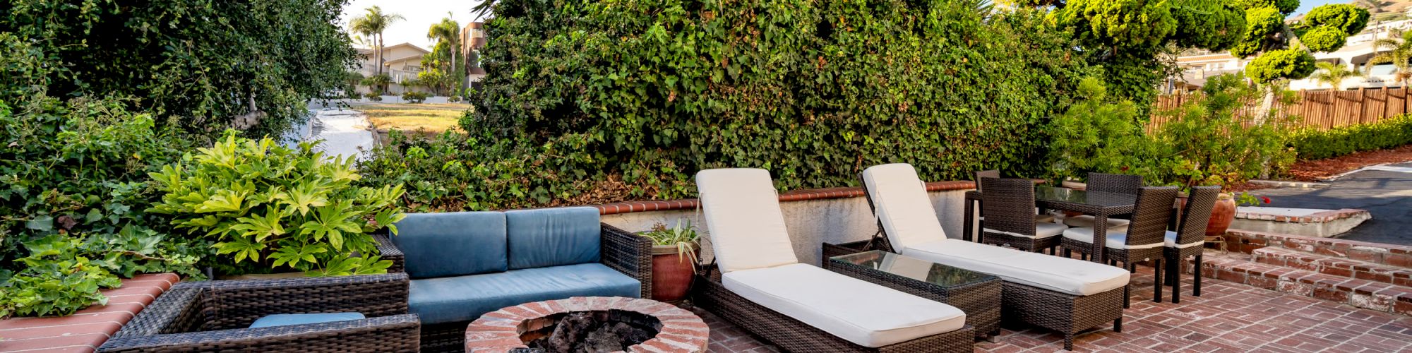
[{"label": "wicker sofa with blue cushions behind the brick fire pit", "polygon": [[481,313],[569,297],[652,292],[651,240],[599,222],[594,208],[411,213],[378,236],[391,271],[411,275],[422,352],[460,352]]}]

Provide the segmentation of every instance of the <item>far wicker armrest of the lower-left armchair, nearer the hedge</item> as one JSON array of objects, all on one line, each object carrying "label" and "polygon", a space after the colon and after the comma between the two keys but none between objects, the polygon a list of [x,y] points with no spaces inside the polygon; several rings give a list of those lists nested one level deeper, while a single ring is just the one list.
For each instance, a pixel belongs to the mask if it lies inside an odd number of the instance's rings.
[{"label": "far wicker armrest of the lower-left armchair, nearer the hedge", "polygon": [[[198,289],[202,330],[247,328],[273,313],[361,312],[369,318],[407,313],[404,273],[181,282]],[[141,316],[141,315],[138,315]]]}]

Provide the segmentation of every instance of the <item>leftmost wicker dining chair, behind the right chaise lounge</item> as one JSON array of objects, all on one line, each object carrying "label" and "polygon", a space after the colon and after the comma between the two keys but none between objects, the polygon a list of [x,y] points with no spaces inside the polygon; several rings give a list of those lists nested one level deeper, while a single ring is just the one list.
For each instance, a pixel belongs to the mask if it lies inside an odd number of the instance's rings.
[{"label": "leftmost wicker dining chair, behind the right chaise lounge", "polygon": [[981,243],[1041,251],[1059,246],[1066,229],[1035,222],[1035,182],[1017,178],[981,178]]}]

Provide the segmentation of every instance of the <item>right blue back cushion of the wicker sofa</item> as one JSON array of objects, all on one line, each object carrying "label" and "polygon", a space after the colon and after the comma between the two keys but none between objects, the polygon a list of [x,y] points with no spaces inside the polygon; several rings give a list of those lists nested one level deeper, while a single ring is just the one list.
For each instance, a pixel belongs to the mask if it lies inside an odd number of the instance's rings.
[{"label": "right blue back cushion of the wicker sofa", "polygon": [[505,212],[510,270],[599,261],[599,209]]}]

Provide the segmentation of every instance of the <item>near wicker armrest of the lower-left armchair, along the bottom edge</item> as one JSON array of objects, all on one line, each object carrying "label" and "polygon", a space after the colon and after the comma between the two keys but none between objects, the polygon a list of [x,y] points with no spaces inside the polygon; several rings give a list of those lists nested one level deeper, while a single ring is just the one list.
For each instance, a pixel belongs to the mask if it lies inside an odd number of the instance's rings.
[{"label": "near wicker armrest of the lower-left armchair, along the bottom edge", "polygon": [[404,313],[257,329],[114,336],[97,352],[417,352],[419,336],[421,321]]}]

